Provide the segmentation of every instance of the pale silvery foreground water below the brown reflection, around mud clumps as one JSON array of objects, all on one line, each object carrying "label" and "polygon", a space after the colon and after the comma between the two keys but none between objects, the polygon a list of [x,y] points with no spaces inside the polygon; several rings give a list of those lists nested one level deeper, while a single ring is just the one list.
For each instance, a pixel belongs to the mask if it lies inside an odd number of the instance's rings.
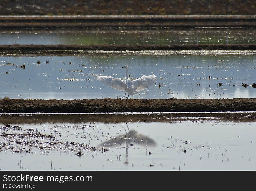
[{"label": "pale silvery foreground water below the brown reflection, around mud clumps", "polygon": [[[12,121],[11,116],[6,118]],[[22,145],[31,152],[0,152],[0,167],[2,170],[254,170],[255,120],[237,123],[215,118],[216,121],[179,121],[177,118],[176,122],[146,120],[127,124],[97,120],[95,123],[65,121],[54,124],[19,124],[16,121],[17,124],[10,125],[18,125],[22,130],[8,133],[33,129],[56,136],[60,142],[84,142],[109,151],[82,150],[83,156],[78,157],[77,150],[59,150],[58,147],[40,150]],[[244,114],[241,118],[249,117]],[[3,125],[0,121],[0,126]],[[1,133],[5,131],[0,128]],[[9,145],[9,139],[0,137],[0,140]],[[20,160],[22,165],[17,165]]]}]

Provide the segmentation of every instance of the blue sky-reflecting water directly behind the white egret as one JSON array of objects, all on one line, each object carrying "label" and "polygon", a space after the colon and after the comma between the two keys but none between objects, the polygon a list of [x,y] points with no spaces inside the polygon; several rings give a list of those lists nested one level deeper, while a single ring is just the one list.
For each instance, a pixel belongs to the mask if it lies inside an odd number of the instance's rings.
[{"label": "blue sky-reflecting water directly behind the white egret", "polygon": [[[49,60],[49,64],[46,61]],[[38,64],[40,61],[40,64]],[[71,64],[69,64],[71,62]],[[20,66],[25,64],[25,69]],[[1,96],[31,99],[117,98],[125,92],[94,79],[94,74],[125,78],[155,74],[155,85],[133,96],[154,98],[256,97],[253,55],[85,55],[1,57]],[[210,79],[209,79],[210,76]],[[221,86],[219,86],[221,83]],[[161,88],[159,88],[159,84]]]}]

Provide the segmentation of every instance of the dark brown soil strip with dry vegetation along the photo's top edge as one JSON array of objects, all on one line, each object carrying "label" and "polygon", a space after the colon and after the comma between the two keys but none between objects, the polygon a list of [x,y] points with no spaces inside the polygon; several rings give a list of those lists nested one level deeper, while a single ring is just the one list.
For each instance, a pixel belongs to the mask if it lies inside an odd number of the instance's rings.
[{"label": "dark brown soil strip with dry vegetation along the photo's top edge", "polygon": [[254,15],[254,0],[4,0],[1,15]]}]

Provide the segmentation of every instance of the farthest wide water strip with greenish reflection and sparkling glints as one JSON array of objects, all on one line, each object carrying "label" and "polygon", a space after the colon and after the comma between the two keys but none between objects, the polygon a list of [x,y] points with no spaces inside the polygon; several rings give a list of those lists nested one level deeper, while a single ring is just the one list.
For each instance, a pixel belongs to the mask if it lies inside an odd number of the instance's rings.
[{"label": "farthest wide water strip with greenish reflection and sparkling glints", "polygon": [[5,44],[256,44],[251,28],[0,30]]}]

